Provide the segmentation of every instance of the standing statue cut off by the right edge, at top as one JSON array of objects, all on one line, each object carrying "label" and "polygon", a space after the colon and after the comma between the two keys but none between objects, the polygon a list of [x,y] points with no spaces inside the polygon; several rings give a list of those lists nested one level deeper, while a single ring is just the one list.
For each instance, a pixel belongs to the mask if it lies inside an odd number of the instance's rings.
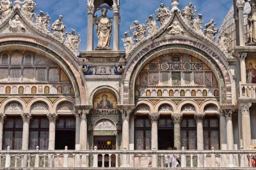
[{"label": "standing statue cut off by the right edge, at top", "polygon": [[256,2],[250,1],[251,13],[248,15],[248,24],[250,26],[250,36],[248,43],[256,43]]}]

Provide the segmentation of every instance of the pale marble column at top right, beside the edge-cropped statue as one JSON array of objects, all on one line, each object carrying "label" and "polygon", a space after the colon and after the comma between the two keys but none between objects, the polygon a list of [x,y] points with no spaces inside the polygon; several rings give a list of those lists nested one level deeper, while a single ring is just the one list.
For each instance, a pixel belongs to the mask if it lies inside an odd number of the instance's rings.
[{"label": "pale marble column at top right, beside the edge-cropped statue", "polygon": [[245,34],[244,34],[244,0],[237,0],[236,6],[238,10],[239,18],[239,39],[240,46],[245,46]]}]

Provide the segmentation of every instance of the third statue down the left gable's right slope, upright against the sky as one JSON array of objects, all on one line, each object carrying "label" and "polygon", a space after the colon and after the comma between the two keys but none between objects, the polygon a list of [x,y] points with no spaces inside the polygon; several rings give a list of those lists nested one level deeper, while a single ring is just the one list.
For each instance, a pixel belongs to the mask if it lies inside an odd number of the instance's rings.
[{"label": "third statue down the left gable's right slope, upright against the sky", "polygon": [[62,19],[63,17],[60,15],[59,19],[52,24],[51,30],[53,31],[53,36],[64,41],[63,32],[65,31],[66,26],[63,25]]}]

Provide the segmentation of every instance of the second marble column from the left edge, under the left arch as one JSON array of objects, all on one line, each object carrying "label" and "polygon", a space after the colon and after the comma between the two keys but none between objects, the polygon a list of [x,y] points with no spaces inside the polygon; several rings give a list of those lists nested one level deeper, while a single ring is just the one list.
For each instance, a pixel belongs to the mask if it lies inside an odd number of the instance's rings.
[{"label": "second marble column from the left edge, under the left arch", "polygon": [[[29,122],[32,117],[31,113],[22,113],[23,131],[22,131],[22,150],[28,150],[29,145]],[[28,166],[28,155],[24,155],[22,167]]]}]

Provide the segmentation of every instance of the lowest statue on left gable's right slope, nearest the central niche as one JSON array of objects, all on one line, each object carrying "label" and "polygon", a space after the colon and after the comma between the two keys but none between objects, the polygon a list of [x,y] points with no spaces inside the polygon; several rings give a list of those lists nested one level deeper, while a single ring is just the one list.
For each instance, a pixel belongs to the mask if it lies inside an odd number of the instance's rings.
[{"label": "lowest statue on left gable's right slope, nearest the central niche", "polygon": [[81,43],[80,34],[77,34],[74,29],[71,30],[71,33],[66,32],[67,38],[64,44],[69,46],[74,52],[77,52]]}]

